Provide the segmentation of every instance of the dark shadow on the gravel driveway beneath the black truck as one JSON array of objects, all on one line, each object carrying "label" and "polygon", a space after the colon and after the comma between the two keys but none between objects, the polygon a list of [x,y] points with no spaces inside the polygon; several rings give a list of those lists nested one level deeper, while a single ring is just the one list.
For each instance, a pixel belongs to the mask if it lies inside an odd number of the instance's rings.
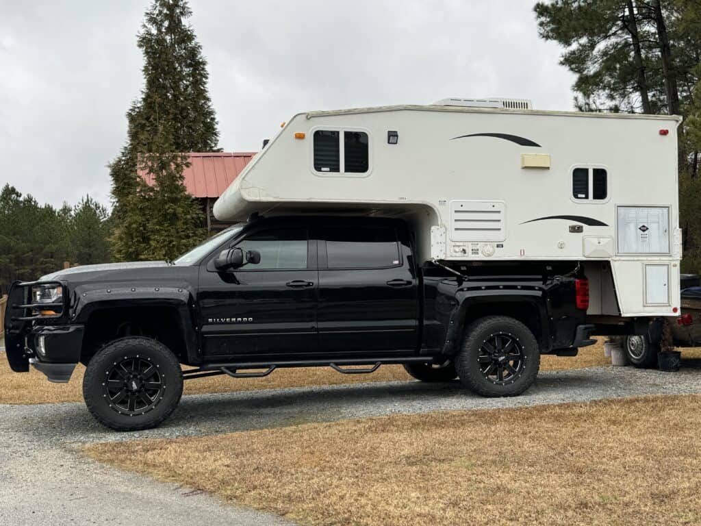
[{"label": "dark shadow on the gravel driveway beneath the black truck", "polygon": [[[147,431],[110,431],[97,424],[86,408],[77,403],[54,405],[53,410],[49,411],[42,409],[35,419],[22,419],[20,425],[30,429],[41,427],[42,434],[50,430],[53,436],[60,436],[64,443],[175,438],[386,414],[562,403],[577,400],[581,393],[586,393],[587,398],[601,398],[593,396],[593,393],[603,392],[606,384],[606,380],[582,372],[570,373],[566,379],[540,377],[529,391],[513,398],[483,398],[465,391],[458,382],[392,382],[234,391],[184,396],[170,419],[157,429]],[[578,396],[569,394],[573,392]],[[611,396],[610,392],[608,396]]]}]

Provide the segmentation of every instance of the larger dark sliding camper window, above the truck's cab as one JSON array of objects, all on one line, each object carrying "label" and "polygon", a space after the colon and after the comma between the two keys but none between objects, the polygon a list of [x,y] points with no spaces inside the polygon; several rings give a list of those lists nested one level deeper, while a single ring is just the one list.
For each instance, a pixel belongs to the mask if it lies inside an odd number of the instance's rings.
[{"label": "larger dark sliding camper window, above the truck's cab", "polygon": [[[343,135],[343,140],[341,140]],[[352,130],[314,132],[314,170],[320,173],[367,173],[367,133]]]}]

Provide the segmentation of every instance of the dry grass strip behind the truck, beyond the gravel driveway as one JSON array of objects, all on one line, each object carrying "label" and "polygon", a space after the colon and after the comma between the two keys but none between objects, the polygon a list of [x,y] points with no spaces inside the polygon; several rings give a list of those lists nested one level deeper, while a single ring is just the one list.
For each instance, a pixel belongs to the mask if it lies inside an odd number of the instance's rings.
[{"label": "dry grass strip behind the truck, beyond the gravel driveway", "polygon": [[[580,349],[576,358],[543,356],[540,370],[592,367],[611,363],[604,358],[601,344]],[[7,360],[0,355],[0,404],[37,404],[78,402],[83,400],[82,383],[85,367],[78,365],[68,384],[51,384],[46,377],[32,368],[17,374],[10,370]],[[280,369],[264,378],[233,379],[226,375],[194,379],[185,382],[186,395],[198,393],[226,393],[255,389],[278,389],[308,385],[335,385],[358,382],[390,382],[411,380],[400,365],[383,365],[372,375],[341,375],[330,367]]]}]

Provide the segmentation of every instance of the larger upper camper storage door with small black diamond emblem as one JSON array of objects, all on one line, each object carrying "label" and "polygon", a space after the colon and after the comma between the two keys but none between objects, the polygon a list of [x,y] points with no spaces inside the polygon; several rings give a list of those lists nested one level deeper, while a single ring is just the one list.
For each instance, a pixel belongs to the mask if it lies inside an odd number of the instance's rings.
[{"label": "larger upper camper storage door with small black diamond emblem", "polygon": [[669,254],[668,206],[619,206],[619,254]]}]

